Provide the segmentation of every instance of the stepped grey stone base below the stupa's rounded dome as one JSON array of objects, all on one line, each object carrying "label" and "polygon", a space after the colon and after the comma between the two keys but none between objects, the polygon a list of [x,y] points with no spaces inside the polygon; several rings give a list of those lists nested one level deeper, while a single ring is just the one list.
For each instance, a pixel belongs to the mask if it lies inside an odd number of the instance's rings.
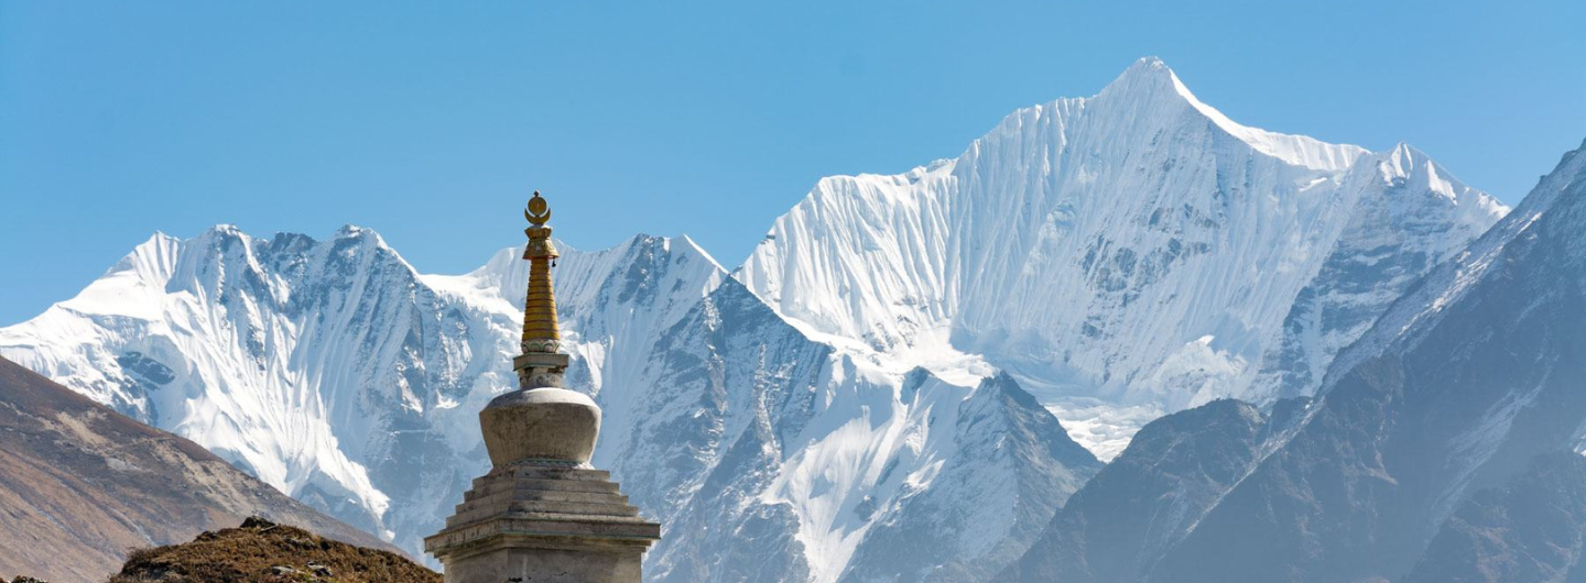
[{"label": "stepped grey stone base below the stupa's rounded dome", "polygon": [[638,583],[660,535],[609,472],[541,461],[476,478],[423,547],[447,583]]}]

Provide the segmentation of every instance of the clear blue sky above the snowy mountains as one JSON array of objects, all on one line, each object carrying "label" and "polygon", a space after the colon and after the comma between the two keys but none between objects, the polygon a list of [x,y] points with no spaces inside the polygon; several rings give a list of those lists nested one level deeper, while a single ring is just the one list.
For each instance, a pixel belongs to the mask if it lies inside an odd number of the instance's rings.
[{"label": "clear blue sky above the snowy mountains", "polygon": [[0,325],[155,230],[379,230],[419,269],[688,233],[730,268],[826,174],[955,157],[1159,55],[1277,131],[1519,200],[1586,138],[1586,2],[0,3]]}]

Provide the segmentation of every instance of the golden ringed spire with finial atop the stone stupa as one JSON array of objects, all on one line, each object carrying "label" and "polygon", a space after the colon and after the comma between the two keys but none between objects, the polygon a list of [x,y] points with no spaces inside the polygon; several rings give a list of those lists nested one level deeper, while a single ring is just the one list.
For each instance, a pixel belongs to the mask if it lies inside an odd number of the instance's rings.
[{"label": "golden ringed spire with finial atop the stone stupa", "polygon": [[550,266],[557,261],[557,247],[550,242],[550,204],[534,192],[523,209],[528,219],[528,295],[523,301],[523,355],[512,360],[519,383],[527,388],[561,387],[561,372],[568,368],[568,355],[561,353],[561,333],[557,330],[557,295],[550,285]]}]

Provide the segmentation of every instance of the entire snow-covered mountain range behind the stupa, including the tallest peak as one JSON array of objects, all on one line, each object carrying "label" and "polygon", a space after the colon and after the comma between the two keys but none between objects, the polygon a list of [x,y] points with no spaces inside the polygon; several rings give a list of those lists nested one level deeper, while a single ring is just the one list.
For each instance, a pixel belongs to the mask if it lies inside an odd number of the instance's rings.
[{"label": "entire snow-covered mountain range behind the stupa, including the tallest peak", "polygon": [[[650,581],[986,580],[1148,421],[1316,391],[1507,209],[1408,146],[1239,125],[1145,59],[955,160],[820,181],[726,269],[687,236],[554,269],[595,463]],[[0,355],[417,554],[488,461],[527,261],[368,228],[155,234]]]}]

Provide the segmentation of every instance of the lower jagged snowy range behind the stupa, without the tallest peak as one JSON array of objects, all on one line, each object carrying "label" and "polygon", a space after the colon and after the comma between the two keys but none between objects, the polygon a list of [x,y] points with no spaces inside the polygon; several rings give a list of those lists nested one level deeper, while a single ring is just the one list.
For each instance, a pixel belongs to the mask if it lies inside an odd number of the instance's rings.
[{"label": "lower jagged snowy range behind the stupa, without the tallest peak", "polygon": [[[0,353],[417,554],[488,466],[477,410],[515,388],[520,253],[427,276],[355,227],[159,234]],[[650,580],[994,572],[1099,469],[1013,380],[856,363],[687,239],[568,250],[555,277],[595,463],[666,524]],[[975,531],[898,554],[899,524]]]}]

